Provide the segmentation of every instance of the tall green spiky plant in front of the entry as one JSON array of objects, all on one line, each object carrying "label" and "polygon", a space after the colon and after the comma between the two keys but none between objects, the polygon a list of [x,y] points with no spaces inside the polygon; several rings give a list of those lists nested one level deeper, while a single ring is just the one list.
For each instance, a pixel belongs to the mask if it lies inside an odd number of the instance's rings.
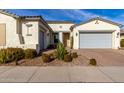
[{"label": "tall green spiky plant in front of the entry", "polygon": [[61,42],[59,42],[57,44],[57,58],[59,60],[63,60],[64,59],[65,52],[66,52],[66,50],[65,50],[64,45]]}]

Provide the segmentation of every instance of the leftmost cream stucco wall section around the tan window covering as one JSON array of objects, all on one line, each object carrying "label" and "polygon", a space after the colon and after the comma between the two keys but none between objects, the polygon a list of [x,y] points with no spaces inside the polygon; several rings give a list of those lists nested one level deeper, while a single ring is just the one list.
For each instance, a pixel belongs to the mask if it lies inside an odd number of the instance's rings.
[{"label": "leftmost cream stucco wall section around the tan window covering", "polygon": [[[0,24],[6,25],[6,46],[15,47],[19,44],[17,35],[17,20],[13,17],[0,13]],[[4,48],[5,46],[0,46]]]}]

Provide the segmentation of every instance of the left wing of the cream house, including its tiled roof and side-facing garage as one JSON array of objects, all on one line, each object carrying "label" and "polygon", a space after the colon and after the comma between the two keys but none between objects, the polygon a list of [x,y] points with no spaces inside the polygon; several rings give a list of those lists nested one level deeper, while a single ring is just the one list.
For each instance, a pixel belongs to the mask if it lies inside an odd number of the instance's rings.
[{"label": "left wing of the cream house, including its tiled roof and side-facing garage", "polygon": [[41,16],[18,16],[0,10],[0,48],[32,48],[39,53],[54,43],[50,26]]}]

